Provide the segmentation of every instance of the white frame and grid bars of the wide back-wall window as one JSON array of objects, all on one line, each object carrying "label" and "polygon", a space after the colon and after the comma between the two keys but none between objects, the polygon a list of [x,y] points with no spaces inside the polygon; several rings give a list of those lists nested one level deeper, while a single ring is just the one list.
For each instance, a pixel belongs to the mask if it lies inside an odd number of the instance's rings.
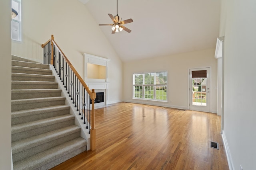
[{"label": "white frame and grid bars of the wide back-wall window", "polygon": [[[166,82],[164,82],[164,84],[157,84],[157,81],[156,81],[156,78],[158,77],[157,74],[161,74],[161,73],[165,74]],[[142,74],[142,78],[143,78],[142,84],[136,84],[135,76],[136,75],[139,76],[141,74]],[[145,84],[145,75],[146,74],[149,74],[150,76],[152,76],[152,74],[154,74],[154,83],[153,84]],[[150,82],[152,82],[152,80],[150,80]],[[138,97],[138,87],[142,88],[141,90],[139,89],[139,97]],[[153,87],[153,90],[151,90],[151,87]],[[166,92],[166,95],[160,95],[160,93],[157,94],[157,91],[156,91],[157,87],[162,87],[162,92]],[[167,71],[134,73],[133,74],[132,98],[139,99],[139,100],[152,100],[152,101],[158,101],[158,102],[168,102],[167,87],[168,87],[168,72]],[[150,90],[148,90],[148,88],[150,88]],[[165,90],[163,90],[163,89],[165,89]],[[137,93],[135,92],[135,90],[137,91]],[[142,93],[141,93],[141,91],[142,91]],[[145,92],[147,92],[147,94]],[[149,92],[149,94],[148,94],[148,92]],[[153,95],[151,94],[152,92],[153,92]],[[140,97],[140,95],[142,97]],[[166,96],[166,100],[164,100],[164,96]],[[160,99],[160,98],[162,98],[162,99]]]}]

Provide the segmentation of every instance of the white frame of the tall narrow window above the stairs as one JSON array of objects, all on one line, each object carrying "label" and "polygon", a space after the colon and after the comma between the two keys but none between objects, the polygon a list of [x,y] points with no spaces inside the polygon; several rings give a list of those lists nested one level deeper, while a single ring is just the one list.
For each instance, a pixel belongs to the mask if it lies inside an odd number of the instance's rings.
[{"label": "white frame of the tall narrow window above the stairs", "polygon": [[[12,41],[18,41],[18,42],[21,42],[22,41],[22,36],[21,36],[21,0],[12,0],[12,2],[16,2],[16,3],[18,3],[18,18],[17,17],[15,17],[15,18],[13,18],[12,19],[12,23],[11,23],[11,38],[12,38]],[[12,8],[13,8],[13,6],[12,6]],[[12,26],[12,24],[13,24],[13,22],[16,22],[16,23],[18,23],[18,30],[16,30],[16,29],[13,29],[13,26]],[[18,39],[14,39],[13,38],[13,31],[18,31]]]}]

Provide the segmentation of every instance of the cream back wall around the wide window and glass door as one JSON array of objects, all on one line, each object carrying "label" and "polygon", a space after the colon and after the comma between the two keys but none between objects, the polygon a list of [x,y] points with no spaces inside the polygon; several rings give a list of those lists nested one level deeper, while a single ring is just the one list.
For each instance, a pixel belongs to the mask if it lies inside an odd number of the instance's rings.
[{"label": "cream back wall around the wide window and glass door", "polygon": [[[217,113],[217,60],[215,49],[124,63],[124,101],[188,109],[188,69],[211,66],[211,112]],[[168,102],[132,99],[132,74],[168,71]]]}]

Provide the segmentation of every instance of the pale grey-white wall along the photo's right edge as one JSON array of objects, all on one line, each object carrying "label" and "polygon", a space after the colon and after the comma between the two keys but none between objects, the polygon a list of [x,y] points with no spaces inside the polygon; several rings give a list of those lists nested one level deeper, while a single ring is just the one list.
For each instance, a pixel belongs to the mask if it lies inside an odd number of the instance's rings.
[{"label": "pale grey-white wall along the photo's right edge", "polygon": [[223,0],[224,139],[230,169],[256,169],[256,1]]}]

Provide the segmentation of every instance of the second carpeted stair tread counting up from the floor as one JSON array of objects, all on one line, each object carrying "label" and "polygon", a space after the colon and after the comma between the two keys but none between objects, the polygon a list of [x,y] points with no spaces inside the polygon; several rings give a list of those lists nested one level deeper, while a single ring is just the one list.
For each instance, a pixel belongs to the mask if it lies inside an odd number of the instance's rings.
[{"label": "second carpeted stair tread counting up from the floor", "polygon": [[33,137],[29,137],[20,141],[12,143],[12,154],[21,152],[22,150],[30,149],[44,143],[56,140],[58,138],[70,135],[72,133],[80,131],[81,128],[76,125],[71,125]]}]

